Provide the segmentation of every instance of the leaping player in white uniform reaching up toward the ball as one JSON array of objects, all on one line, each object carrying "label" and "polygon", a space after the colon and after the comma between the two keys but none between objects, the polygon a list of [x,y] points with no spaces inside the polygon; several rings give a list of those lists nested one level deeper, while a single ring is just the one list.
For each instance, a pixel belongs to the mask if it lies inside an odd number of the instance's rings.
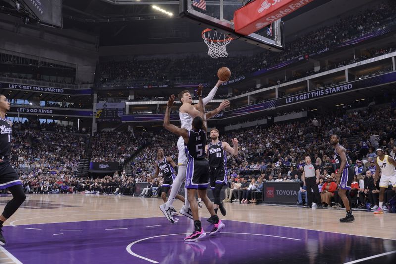
[{"label": "leaping player in white uniform reaching up toward the ball", "polygon": [[[203,104],[206,105],[208,104],[216,94],[217,89],[221,84],[223,84],[225,81],[218,80],[217,84],[215,87],[209,92],[209,94],[203,98]],[[182,103],[182,106],[179,108],[179,117],[180,117],[180,122],[182,123],[181,128],[185,128],[187,130],[191,130],[192,126],[191,123],[193,121],[193,118],[196,116],[200,115],[200,112],[198,111],[199,104],[192,105],[192,97],[190,95],[190,92],[188,90],[182,91],[179,93],[178,99]],[[227,100],[224,100],[223,102],[220,103],[219,107],[217,107],[215,110],[212,110],[210,112],[206,113],[206,119],[209,119],[215,115],[217,115],[221,110],[224,108],[230,106],[230,102]],[[172,217],[172,210],[173,209],[173,201],[175,200],[176,194],[178,193],[180,186],[183,184],[183,181],[186,178],[186,165],[187,165],[187,157],[186,153],[184,150],[184,139],[183,137],[179,137],[177,141],[177,148],[179,150],[179,157],[178,157],[178,171],[175,180],[173,181],[173,186],[171,189],[171,192],[169,194],[168,201],[165,204],[162,204],[159,206],[161,209],[162,213],[165,215],[165,217],[171,222],[174,223],[175,221],[173,220]],[[187,197],[187,189],[184,189],[184,194],[185,197]],[[186,199],[184,206],[180,209],[180,213],[182,215],[185,215],[191,219],[193,219],[193,215],[191,214],[190,210],[190,204],[188,202],[188,199]]]}]

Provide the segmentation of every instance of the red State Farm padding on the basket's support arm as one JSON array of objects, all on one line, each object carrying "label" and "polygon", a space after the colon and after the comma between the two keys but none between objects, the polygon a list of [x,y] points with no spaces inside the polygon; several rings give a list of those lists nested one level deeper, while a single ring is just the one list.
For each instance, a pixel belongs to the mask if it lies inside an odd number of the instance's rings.
[{"label": "red State Farm padding on the basket's support arm", "polygon": [[249,35],[313,0],[256,0],[234,12],[235,32]]}]

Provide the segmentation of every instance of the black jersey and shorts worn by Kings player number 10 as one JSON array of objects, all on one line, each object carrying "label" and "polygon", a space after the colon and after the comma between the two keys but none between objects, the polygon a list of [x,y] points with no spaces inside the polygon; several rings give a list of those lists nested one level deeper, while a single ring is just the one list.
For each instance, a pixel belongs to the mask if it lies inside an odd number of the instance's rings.
[{"label": "black jersey and shorts worn by Kings player number 10", "polygon": [[216,144],[209,143],[209,171],[210,188],[217,184],[227,184],[227,155],[221,141]]}]

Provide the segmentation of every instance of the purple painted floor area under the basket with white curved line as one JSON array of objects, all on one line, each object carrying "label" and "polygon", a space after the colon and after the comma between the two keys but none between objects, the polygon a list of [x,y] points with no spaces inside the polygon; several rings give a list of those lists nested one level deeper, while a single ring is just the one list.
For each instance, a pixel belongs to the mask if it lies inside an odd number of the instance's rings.
[{"label": "purple painted floor area under the basket with white curved line", "polygon": [[[205,231],[209,223],[203,219]],[[192,221],[99,220],[4,227],[4,247],[25,264],[347,263],[396,249],[395,240],[224,220],[216,237],[185,243]],[[395,254],[359,263],[391,263]]]}]

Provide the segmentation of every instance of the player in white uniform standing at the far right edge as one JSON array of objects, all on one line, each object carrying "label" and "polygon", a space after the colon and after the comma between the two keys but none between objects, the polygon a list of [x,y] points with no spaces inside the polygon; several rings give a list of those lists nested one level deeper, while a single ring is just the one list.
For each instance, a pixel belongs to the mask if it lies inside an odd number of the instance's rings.
[{"label": "player in white uniform standing at the far right edge", "polygon": [[374,211],[374,214],[382,214],[382,203],[384,202],[384,192],[388,188],[389,184],[396,187],[396,161],[388,155],[385,155],[383,149],[379,148],[376,150],[377,158],[375,159],[375,175],[374,181],[377,182],[378,176],[381,171],[380,179],[380,206]]}]

